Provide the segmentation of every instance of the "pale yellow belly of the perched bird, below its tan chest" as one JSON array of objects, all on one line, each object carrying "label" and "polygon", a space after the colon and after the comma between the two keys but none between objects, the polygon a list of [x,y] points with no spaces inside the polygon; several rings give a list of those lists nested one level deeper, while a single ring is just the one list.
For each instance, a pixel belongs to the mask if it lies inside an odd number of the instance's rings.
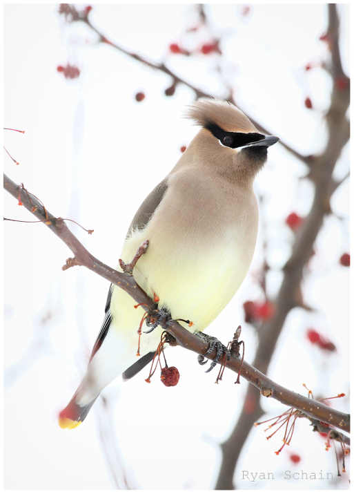
[{"label": "pale yellow belly of the perched bird, below its tan chest", "polygon": [[[173,319],[193,321],[192,328],[182,324],[191,331],[201,332],[239,289],[248,272],[255,244],[255,238],[252,241],[248,238],[245,243],[237,229],[233,229],[215,238],[210,245],[201,243],[190,248],[188,243],[173,243],[161,235],[155,242],[154,231],[147,228],[126,240],[121,254],[124,262],[130,262],[145,240],[149,240],[149,246],[134,269],[135,281],[152,298],[157,294],[159,308],[168,309]],[[115,287],[111,312],[119,330],[138,329],[144,310],[135,310],[134,305],[132,298]],[[157,335],[157,330],[153,333]],[[152,338],[154,345],[153,336],[145,335],[144,340]]]}]

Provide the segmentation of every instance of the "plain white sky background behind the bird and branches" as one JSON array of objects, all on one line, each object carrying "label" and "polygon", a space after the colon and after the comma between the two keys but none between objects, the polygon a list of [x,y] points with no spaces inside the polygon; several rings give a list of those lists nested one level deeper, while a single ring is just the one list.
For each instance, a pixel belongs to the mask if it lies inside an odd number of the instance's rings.
[{"label": "plain white sky background behind the bird and branches", "polygon": [[[115,267],[130,220],[141,201],[177,162],[181,145],[197,129],[180,118],[193,91],[179,86],[165,97],[170,79],[153,73],[113,48],[92,46],[95,37],[82,26],[63,35],[55,4],[5,6],[4,144],[19,161],[4,154],[4,170],[39,197],[55,216],[72,218],[70,229],[97,258]],[[329,101],[330,79],[321,68],[305,72],[311,61],[321,62],[326,45],[319,36],[326,30],[322,4],[252,6],[242,17],[242,5],[211,6],[215,34],[227,29],[223,46],[232,60],[235,98],[242,109],[301,153],[321,151],[325,142],[321,111]],[[193,19],[186,5],[97,5],[92,20],[108,38],[130,50],[161,60],[170,42],[181,42],[182,26]],[[344,33],[348,33],[348,6],[342,6]],[[68,39],[80,42],[75,48]],[[82,39],[87,43],[83,44]],[[346,37],[344,35],[344,41]],[[348,70],[348,47],[342,45]],[[68,81],[57,73],[68,61],[81,68],[81,77]],[[215,95],[223,96],[208,57],[168,56],[177,73]],[[138,104],[134,95],[144,91]],[[315,111],[306,110],[304,99]],[[270,244],[268,262],[280,269],[289,254],[293,233],[284,225],[288,213],[306,215],[312,200],[311,185],[297,178],[305,167],[282,146],[273,146],[268,164],[255,189],[265,196],[261,222],[266,220]],[[348,167],[348,146],[337,164],[337,178]],[[4,216],[34,219],[7,193]],[[334,211],[348,215],[346,182],[333,198]],[[97,402],[86,421],[75,430],[57,425],[85,369],[89,352],[104,316],[109,283],[84,268],[66,272],[61,266],[71,256],[66,246],[39,224],[6,222],[5,258],[5,488],[110,489],[112,484],[97,441]],[[304,294],[318,312],[294,310],[286,321],[275,359],[272,379],[304,393],[306,383],[315,395],[348,392],[348,269],[338,259],[349,249],[348,222],[328,218],[315,245]],[[226,343],[243,323],[242,303],[257,300],[261,292],[253,274],[262,263],[262,235],[250,274],[237,296],[208,328],[208,334]],[[269,278],[276,293],[281,280],[275,269]],[[48,319],[48,320],[46,320]],[[44,320],[44,322],[43,322]],[[324,355],[306,342],[305,332],[315,327],[337,346]],[[243,323],[246,360],[252,361],[253,327]],[[39,358],[37,358],[39,357]],[[175,388],[165,388],[156,376],[150,386],[141,372],[122,383],[117,379],[105,391],[115,403],[114,423],[119,448],[135,488],[213,488],[219,465],[217,445],[239,415],[246,381],[234,386],[235,374],[226,370],[219,386],[217,373],[204,373],[197,356],[179,348],[168,350],[168,364],[179,368]],[[333,401],[344,411],[346,399]],[[262,398],[264,419],[285,410]],[[95,410],[96,408],[96,410]],[[284,471],[332,472],[333,450],[324,451],[324,438],[311,434],[298,421],[290,447],[281,446],[282,433],[266,441],[262,426],[255,429],[242,452],[235,475],[240,489],[348,488],[348,477],[338,484],[324,480],[284,480]],[[289,461],[290,453],[302,462]],[[241,470],[272,472],[275,480],[242,480]]]}]

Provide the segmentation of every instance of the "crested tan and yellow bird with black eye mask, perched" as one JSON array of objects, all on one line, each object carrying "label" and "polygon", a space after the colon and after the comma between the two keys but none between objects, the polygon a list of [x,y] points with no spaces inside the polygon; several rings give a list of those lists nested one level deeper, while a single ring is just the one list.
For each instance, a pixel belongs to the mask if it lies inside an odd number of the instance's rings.
[{"label": "crested tan and yellow bird with black eye mask, perched", "polygon": [[[203,332],[239,289],[253,258],[258,206],[253,180],[278,137],[259,133],[236,106],[199,99],[186,115],[201,129],[166,178],[144,200],[126,237],[121,259],[130,263],[149,241],[134,268],[135,281],[158,309],[173,319],[193,321]],[[121,267],[117,267],[121,271]],[[115,377],[130,379],[153,359],[162,328],[141,334],[146,307],[110,286],[104,323],[88,369],[59,416],[61,428],[75,428],[101,390]]]}]

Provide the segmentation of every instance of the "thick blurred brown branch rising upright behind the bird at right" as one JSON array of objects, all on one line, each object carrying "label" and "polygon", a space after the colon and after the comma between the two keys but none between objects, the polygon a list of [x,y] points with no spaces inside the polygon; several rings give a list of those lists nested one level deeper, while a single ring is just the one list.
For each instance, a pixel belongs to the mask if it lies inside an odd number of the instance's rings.
[{"label": "thick blurred brown branch rising upright behind the bird at right", "polygon": [[[333,77],[340,70],[338,61],[339,48],[337,14],[334,4],[328,5],[329,25],[332,44]],[[275,300],[275,315],[269,321],[262,323],[259,328],[259,344],[253,365],[261,372],[266,373],[273,357],[275,345],[282,331],[288,313],[297,306],[296,294],[301,289],[304,267],[311,257],[313,244],[322,227],[324,217],[331,213],[331,194],[333,193],[333,169],[340,157],[342,148],[349,138],[349,122],[346,120],[346,111],[349,105],[348,91],[342,91],[333,84],[331,106],[326,115],[328,126],[328,142],[322,155],[318,156],[311,169],[309,178],[315,184],[313,204],[302,229],[295,238],[293,252],[284,266],[284,278]],[[244,446],[248,434],[255,421],[262,416],[263,410],[259,403],[259,394],[253,386],[248,385],[245,403],[248,407],[239,417],[230,437],[224,441],[222,447],[222,466],[217,479],[217,490],[233,490],[233,475],[239,454]],[[252,406],[249,406],[249,403]]]}]

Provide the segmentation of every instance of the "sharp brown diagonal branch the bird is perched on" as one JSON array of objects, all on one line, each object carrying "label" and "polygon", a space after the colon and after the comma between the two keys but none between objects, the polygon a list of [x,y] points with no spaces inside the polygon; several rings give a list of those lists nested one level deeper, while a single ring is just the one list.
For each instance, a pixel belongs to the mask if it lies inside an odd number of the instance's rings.
[{"label": "sharp brown diagonal branch the bird is perched on", "polygon": [[[4,175],[3,183],[4,189],[10,192],[14,198],[18,198],[21,187],[12,182],[6,175]],[[112,269],[92,256],[92,254],[83,247],[75,235],[71,233],[62,218],[55,218],[55,216],[44,209],[41,202],[39,202],[35,196],[27,191],[26,195],[23,194],[21,200],[23,206],[26,207],[28,211],[31,211],[37,218],[46,220],[48,228],[66,243],[73,254],[75,254],[75,264],[87,267],[96,274],[99,274],[99,276],[106,278],[110,283],[114,283],[121,289],[124,289],[137,303],[144,303],[149,307],[153,306],[154,302],[146,295],[141,287],[135,283],[134,278],[132,278],[130,274],[117,272],[115,269]],[[192,350],[199,355],[206,353],[208,348],[207,343],[199,336],[185,330],[184,327],[177,323],[177,321],[173,321],[168,327],[168,332],[175,337],[177,343],[179,343],[181,347]],[[208,359],[213,359],[215,354],[216,350],[207,356]],[[240,359],[236,357],[235,354],[232,354],[230,361],[226,362],[226,367],[234,372],[239,372],[239,366]],[[259,372],[259,370],[248,364],[246,361],[242,364],[241,375],[252,383],[253,386],[260,391],[261,395],[273,397],[287,406],[302,410],[302,412],[312,419],[324,421],[331,426],[348,432],[349,417],[347,414],[338,412],[334,408],[330,408],[319,401],[306,398],[287,390],[283,386],[279,386],[279,384],[268,379],[262,372]]]}]

